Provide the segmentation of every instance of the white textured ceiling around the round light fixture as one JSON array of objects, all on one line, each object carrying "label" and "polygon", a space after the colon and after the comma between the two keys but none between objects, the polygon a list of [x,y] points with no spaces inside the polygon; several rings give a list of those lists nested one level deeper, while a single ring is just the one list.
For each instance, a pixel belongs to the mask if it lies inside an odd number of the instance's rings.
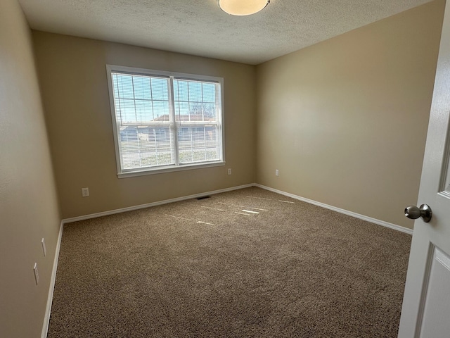
[{"label": "white textured ceiling around the round light fixture", "polygon": [[217,0],[19,0],[30,27],[256,65],[430,0],[271,0],[233,16]]}]

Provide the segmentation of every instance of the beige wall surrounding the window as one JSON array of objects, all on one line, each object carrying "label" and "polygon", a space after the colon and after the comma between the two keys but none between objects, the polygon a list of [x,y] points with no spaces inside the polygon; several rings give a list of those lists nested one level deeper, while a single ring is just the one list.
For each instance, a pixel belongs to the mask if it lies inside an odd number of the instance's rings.
[{"label": "beige wall surrounding the window", "polygon": [[[254,66],[44,32],[33,39],[63,218],[255,182]],[[117,178],[106,64],[224,77],[226,165]]]}]

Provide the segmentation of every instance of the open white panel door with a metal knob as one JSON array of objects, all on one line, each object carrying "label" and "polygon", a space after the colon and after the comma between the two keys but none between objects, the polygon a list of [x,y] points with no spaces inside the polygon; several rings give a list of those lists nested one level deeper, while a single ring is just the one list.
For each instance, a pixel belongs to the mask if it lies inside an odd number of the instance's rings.
[{"label": "open white panel door with a metal knob", "polygon": [[450,337],[450,1],[437,61],[435,89],[418,204],[430,223],[414,223],[399,338]]}]

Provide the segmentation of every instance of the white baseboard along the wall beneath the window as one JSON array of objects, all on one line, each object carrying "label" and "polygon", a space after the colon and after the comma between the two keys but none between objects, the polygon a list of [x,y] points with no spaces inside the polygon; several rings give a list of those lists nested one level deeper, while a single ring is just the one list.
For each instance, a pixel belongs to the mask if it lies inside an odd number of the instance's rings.
[{"label": "white baseboard along the wall beneath the window", "polygon": [[139,210],[139,209],[143,209],[143,208],[150,208],[150,206],[160,206],[162,204],[169,204],[169,203],[173,203],[173,202],[185,201],[186,199],[196,199],[201,196],[220,194],[221,192],[231,192],[233,190],[248,188],[248,187],[252,187],[254,185],[255,184],[244,184],[244,185],[240,185],[238,187],[214,190],[213,192],[202,192],[200,194],[193,194],[193,195],[188,195],[188,196],[177,197],[176,199],[165,199],[164,201],[157,201],[157,202],[152,202],[152,203],[147,203],[147,204],[141,204],[139,206],[129,206],[127,208],[103,211],[101,213],[91,213],[90,215],[83,215],[83,216],[78,216],[78,217],[73,217],[73,218],[65,218],[63,220],[63,223],[65,224],[65,223],[77,222],[78,220],[89,220],[90,218],[97,218],[97,217],[102,217],[102,216],[114,215],[115,213],[124,213],[126,211],[134,211],[134,210]]}]

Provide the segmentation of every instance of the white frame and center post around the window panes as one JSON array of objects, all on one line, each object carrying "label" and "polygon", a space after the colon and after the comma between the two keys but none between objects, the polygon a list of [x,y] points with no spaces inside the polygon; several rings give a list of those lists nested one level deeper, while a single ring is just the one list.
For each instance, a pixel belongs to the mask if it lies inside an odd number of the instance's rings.
[{"label": "white frame and center post around the window panes", "polygon": [[[175,165],[162,165],[158,167],[146,167],[146,168],[136,168],[133,170],[124,170],[122,169],[121,163],[121,154],[120,154],[120,125],[117,125],[116,121],[116,113],[115,113],[115,100],[114,100],[114,90],[113,90],[113,80],[111,73],[128,73],[130,75],[153,75],[153,76],[162,76],[168,77],[169,81],[169,111],[171,114],[171,118],[174,118],[174,86],[173,81],[175,80],[192,80],[192,81],[206,81],[206,82],[217,82],[220,85],[220,112],[219,112],[219,133],[221,135],[221,139],[219,140],[219,148],[221,151],[221,159],[219,161],[207,161],[201,163],[179,163],[178,159],[176,159]],[[106,65],[106,73],[108,77],[108,91],[110,96],[110,108],[111,108],[111,119],[113,123],[113,136],[114,136],[114,145],[115,145],[115,157],[117,164],[117,176],[119,178],[122,177],[131,177],[131,176],[141,176],[141,175],[152,175],[159,173],[167,173],[172,171],[180,171],[180,170],[192,170],[199,168],[210,168],[216,167],[219,165],[225,165],[225,130],[224,130],[224,79],[222,77],[212,77],[205,75],[194,75],[194,74],[186,74],[186,73],[173,73],[166,72],[162,70],[149,70],[145,68],[133,68],[133,67],[125,67],[122,65]],[[177,125],[174,122],[174,148],[175,148],[175,157],[178,157],[178,130],[184,125]]]}]

